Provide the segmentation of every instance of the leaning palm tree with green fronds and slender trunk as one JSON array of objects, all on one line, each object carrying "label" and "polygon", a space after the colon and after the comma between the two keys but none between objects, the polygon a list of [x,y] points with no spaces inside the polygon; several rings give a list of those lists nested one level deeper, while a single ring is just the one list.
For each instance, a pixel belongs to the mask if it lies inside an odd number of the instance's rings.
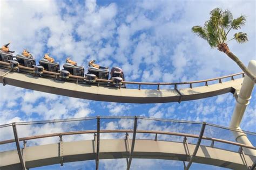
[{"label": "leaning palm tree with green fronds and slender trunk", "polygon": [[241,29],[241,26],[245,25],[245,16],[241,15],[240,17],[233,19],[232,13],[229,10],[223,11],[220,8],[213,9],[210,12],[210,15],[210,19],[205,22],[203,27],[198,25],[193,26],[192,32],[205,39],[212,48],[218,47],[219,51],[224,52],[229,56],[235,63],[237,63],[245,74],[252,79],[253,82],[256,82],[256,77],[227,46],[227,42],[233,39],[238,43],[248,41],[247,34],[243,32],[235,33],[233,38],[227,40],[227,34],[230,30],[238,30]]}]

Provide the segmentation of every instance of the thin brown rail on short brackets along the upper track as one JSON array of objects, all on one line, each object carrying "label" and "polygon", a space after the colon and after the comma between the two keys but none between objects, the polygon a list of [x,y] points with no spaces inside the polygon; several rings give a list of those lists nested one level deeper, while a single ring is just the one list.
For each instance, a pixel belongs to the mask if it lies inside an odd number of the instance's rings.
[{"label": "thin brown rail on short brackets along the upper track", "polygon": [[[0,61],[0,66],[1,65],[9,67],[10,63]],[[34,70],[33,68],[24,67],[24,66],[20,66],[20,65],[18,66],[18,68],[29,70],[30,72]],[[56,76],[56,77],[60,75],[60,73],[49,72],[49,71],[46,71],[46,70],[43,71],[43,74],[49,74],[49,75]],[[237,73],[237,74],[231,74],[231,75],[216,77],[216,78],[213,78],[213,79],[188,81],[188,82],[133,82],[133,81],[123,81],[123,83],[124,84],[137,84],[139,90],[141,89],[142,85],[157,86],[157,90],[160,90],[160,86],[170,86],[170,85],[174,85],[174,89],[177,89],[177,86],[182,85],[182,84],[190,84],[190,88],[193,88],[193,84],[196,84],[196,83],[205,83],[205,86],[208,86],[208,82],[210,82],[210,81],[219,80],[219,83],[222,83],[223,79],[226,79],[226,78],[230,77],[231,80],[234,80],[234,76],[238,76],[238,75],[242,75],[242,77],[244,77],[245,73]],[[84,80],[85,79],[85,77],[75,76],[75,75],[70,75],[69,77],[72,78],[72,79],[77,79],[77,80]],[[104,79],[96,79],[96,81],[97,82],[109,82],[109,83],[113,82],[112,80],[104,80]]]}]

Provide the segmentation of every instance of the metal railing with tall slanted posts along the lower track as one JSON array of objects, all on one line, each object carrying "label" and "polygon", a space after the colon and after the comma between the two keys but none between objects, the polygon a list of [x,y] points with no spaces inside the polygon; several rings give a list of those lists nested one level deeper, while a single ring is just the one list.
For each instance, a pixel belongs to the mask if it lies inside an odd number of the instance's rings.
[{"label": "metal railing with tall slanted posts along the lower track", "polygon": [[[115,119],[115,118],[134,119],[134,128],[133,128],[133,130],[131,130],[131,129],[128,129],[128,130],[124,130],[124,129],[120,129],[120,130],[100,130],[100,119]],[[91,120],[91,119],[97,119],[97,130],[59,132],[59,133],[42,134],[42,135],[23,137],[23,138],[18,138],[18,134],[17,134],[17,126],[35,125],[35,124],[47,124],[47,123],[54,123],[54,122],[56,122],[56,123],[59,123],[59,122],[70,122],[70,121],[79,121],[79,120],[82,121],[82,120]],[[138,119],[163,121],[163,122],[180,122],[180,123],[201,124],[201,131],[200,131],[199,135],[196,135],[196,134],[179,133],[179,132],[166,132],[166,131],[153,131],[153,130],[137,130],[137,120]],[[224,144],[230,144],[230,145],[239,146],[241,148],[241,151],[242,151],[242,147],[246,147],[246,148],[250,148],[252,150],[256,150],[256,147],[254,147],[254,146],[247,146],[247,145],[244,145],[244,144],[235,143],[233,141],[206,137],[206,136],[204,136],[204,130],[205,130],[205,126],[206,125],[213,126],[213,124],[207,124],[205,122],[176,121],[176,120],[172,120],[172,119],[165,120],[165,119],[145,118],[145,117],[137,117],[137,116],[135,116],[135,117],[132,117],[132,116],[126,116],[126,117],[110,117],[110,116],[99,117],[99,116],[97,116],[97,117],[88,117],[88,118],[81,118],[81,119],[64,119],[63,121],[61,121],[61,120],[53,120],[53,121],[37,121],[37,122],[12,123],[12,124],[6,124],[4,126],[0,126],[0,128],[1,127],[4,128],[4,127],[12,126],[12,128],[14,129],[15,139],[0,141],[0,145],[8,144],[8,143],[16,143],[17,152],[18,152],[19,159],[20,159],[20,162],[21,162],[21,166],[23,167],[23,169],[25,169],[25,163],[24,163],[24,159],[22,157],[21,148],[19,147],[19,141],[23,141],[24,143],[26,143],[26,141],[28,141],[28,140],[39,139],[39,138],[48,138],[48,137],[59,137],[60,138],[59,141],[62,141],[62,137],[63,136],[69,136],[69,135],[75,135],[75,134],[89,134],[89,133],[95,134],[95,141],[97,141],[97,143],[96,143],[96,158],[95,158],[95,160],[96,160],[96,169],[98,169],[98,167],[99,167],[98,165],[99,165],[99,147],[100,147],[100,140],[99,139],[100,139],[100,133],[126,133],[126,140],[129,139],[128,133],[133,133],[131,150],[129,151],[130,152],[130,156],[129,156],[129,159],[127,159],[127,169],[130,169],[130,166],[131,166],[133,148],[134,148],[134,145],[136,143],[136,134],[137,133],[155,134],[155,139],[154,140],[158,140],[157,139],[157,135],[158,134],[166,134],[166,135],[171,135],[171,136],[184,137],[184,144],[187,144],[186,138],[197,138],[198,142],[196,144],[196,147],[194,149],[193,154],[189,155],[190,160],[189,160],[187,166],[185,165],[185,162],[184,162],[184,168],[185,169],[189,169],[190,168],[190,166],[191,166],[191,164],[193,162],[194,157],[196,157],[196,154],[197,154],[198,148],[200,146],[201,140],[203,140],[203,139],[204,140],[212,141],[211,147],[214,147],[214,141],[217,141],[217,142],[224,143]],[[218,125],[214,125],[214,126],[218,126]],[[220,126],[220,128],[223,128],[223,126]],[[229,128],[226,128],[226,129],[229,129]],[[232,129],[229,129],[229,130],[233,131]],[[251,132],[251,133],[256,136],[256,133],[253,133],[253,132]]]}]

